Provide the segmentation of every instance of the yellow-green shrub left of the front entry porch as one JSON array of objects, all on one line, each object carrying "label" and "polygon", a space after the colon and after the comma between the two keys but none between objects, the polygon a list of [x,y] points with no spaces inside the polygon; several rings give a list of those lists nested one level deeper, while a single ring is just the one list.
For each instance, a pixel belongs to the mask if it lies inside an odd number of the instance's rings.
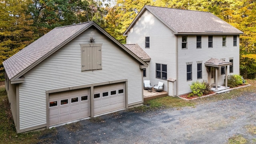
[{"label": "yellow-green shrub left of the front entry porch", "polygon": [[193,82],[190,86],[193,95],[202,96],[203,94],[209,94],[210,84],[206,81]]}]

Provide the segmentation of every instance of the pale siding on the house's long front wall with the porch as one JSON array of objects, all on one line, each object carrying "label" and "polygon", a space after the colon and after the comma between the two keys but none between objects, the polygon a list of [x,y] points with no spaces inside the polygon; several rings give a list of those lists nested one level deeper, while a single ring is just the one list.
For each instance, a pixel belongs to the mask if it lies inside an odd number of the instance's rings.
[{"label": "pale siding on the house's long front wall with the porch", "polygon": [[[208,35],[202,35],[202,48],[196,48],[196,35],[188,35],[188,49],[181,48],[182,36],[178,36],[178,87],[179,95],[191,92],[192,82],[202,82],[208,80],[208,73],[204,63],[210,58],[234,58],[234,72],[239,74],[239,36],[237,36],[237,46],[233,46],[233,35],[227,35],[226,47],[222,47],[222,35],[213,35],[213,48],[208,48]],[[197,79],[197,61],[202,62],[202,79]],[[186,62],[192,64],[192,80],[186,79]],[[228,66],[229,74],[229,66]],[[224,84],[225,75],[221,75],[221,68],[218,69],[218,85]]]}]

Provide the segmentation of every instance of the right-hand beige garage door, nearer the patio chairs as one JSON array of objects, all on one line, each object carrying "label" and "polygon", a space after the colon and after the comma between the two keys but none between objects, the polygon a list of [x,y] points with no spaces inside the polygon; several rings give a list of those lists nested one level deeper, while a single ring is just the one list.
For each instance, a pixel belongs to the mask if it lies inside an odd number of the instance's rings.
[{"label": "right-hand beige garage door, nearer the patio chairs", "polygon": [[124,83],[94,87],[94,116],[125,108]]}]

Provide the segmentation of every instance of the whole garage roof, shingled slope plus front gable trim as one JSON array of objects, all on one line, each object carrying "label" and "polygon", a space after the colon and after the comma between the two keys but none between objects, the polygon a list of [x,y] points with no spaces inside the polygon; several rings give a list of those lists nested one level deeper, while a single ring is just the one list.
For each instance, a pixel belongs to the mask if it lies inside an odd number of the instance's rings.
[{"label": "whole garage roof, shingled slope plus front gable trim", "polygon": [[76,36],[92,26],[104,36],[106,36],[106,38],[114,42],[114,44],[119,46],[127,54],[132,56],[140,64],[147,66],[147,64],[143,60],[138,58],[138,56],[128,50],[128,48],[126,48],[115,38],[110,36],[110,34],[108,34],[100,26],[98,26],[98,24],[90,21],[70,26],[56,27],[44,36],[40,37],[38,40],[32,42],[30,45],[26,46],[25,48],[5,60],[3,62],[3,65],[8,78],[11,81],[19,81],[19,79],[22,80],[23,78],[20,78],[22,75],[24,75],[34,66],[42,62],[48,56],[56,52],[62,46],[64,46]]}]

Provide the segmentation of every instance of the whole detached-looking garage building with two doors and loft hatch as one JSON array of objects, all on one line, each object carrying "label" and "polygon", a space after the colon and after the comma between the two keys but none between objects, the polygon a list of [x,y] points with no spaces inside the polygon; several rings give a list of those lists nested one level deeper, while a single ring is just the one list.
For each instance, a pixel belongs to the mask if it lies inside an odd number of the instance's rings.
[{"label": "whole detached-looking garage building with two doors and loft hatch", "polygon": [[3,64],[18,133],[143,103],[148,65],[95,22],[54,28]]}]

